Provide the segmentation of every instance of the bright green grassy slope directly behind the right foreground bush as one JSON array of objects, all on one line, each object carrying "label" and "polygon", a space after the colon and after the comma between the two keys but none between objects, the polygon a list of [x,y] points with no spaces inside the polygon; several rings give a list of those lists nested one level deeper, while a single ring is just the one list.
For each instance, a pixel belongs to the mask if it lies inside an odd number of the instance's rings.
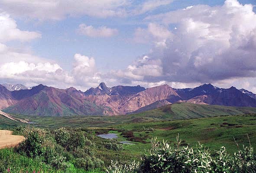
[{"label": "bright green grassy slope directly behind the right foreground bush", "polygon": [[[141,122],[126,125],[118,125],[116,128],[124,128],[133,131],[134,135],[145,138],[147,142],[151,138],[157,137],[174,142],[176,136],[180,134],[183,145],[196,145],[198,141],[211,149],[221,146],[227,147],[227,151],[234,152],[237,146],[233,140],[242,147],[243,144],[249,145],[246,134],[249,135],[251,144],[256,148],[256,115],[237,115],[221,116],[203,119],[189,119],[161,122]],[[143,129],[153,128],[154,131]],[[133,146],[129,146],[133,147]],[[149,144],[145,144],[144,148]]]}]

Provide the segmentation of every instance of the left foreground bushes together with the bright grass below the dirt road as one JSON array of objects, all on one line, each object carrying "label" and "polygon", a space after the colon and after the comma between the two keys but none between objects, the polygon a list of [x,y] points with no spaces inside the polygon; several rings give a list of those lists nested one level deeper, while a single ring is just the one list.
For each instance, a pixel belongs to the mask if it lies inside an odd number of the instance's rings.
[{"label": "left foreground bushes together with the bright grass below the dirt road", "polygon": [[[81,128],[58,128],[52,131],[24,128],[26,139],[14,149],[0,150],[0,172],[84,172],[104,170],[97,150],[123,150],[117,141],[96,144],[92,131]],[[15,165],[15,163],[19,163]]]}]

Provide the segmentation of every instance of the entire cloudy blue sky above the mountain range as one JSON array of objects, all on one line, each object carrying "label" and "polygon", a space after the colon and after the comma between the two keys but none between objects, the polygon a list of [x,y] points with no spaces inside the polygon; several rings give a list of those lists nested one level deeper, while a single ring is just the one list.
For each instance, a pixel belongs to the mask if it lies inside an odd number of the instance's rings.
[{"label": "entire cloudy blue sky above the mountain range", "polygon": [[0,83],[256,93],[256,0],[0,0]]}]

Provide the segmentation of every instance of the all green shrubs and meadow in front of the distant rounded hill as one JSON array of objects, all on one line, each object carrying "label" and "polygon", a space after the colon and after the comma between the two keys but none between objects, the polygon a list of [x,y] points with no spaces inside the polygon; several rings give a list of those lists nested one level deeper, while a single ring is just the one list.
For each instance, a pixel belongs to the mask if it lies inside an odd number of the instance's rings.
[{"label": "all green shrubs and meadow in front of the distant rounded hill", "polygon": [[[26,140],[14,149],[0,150],[0,173],[7,173],[8,169],[11,173],[32,173],[34,170],[40,173],[119,173],[120,170],[150,173],[175,172],[175,169],[195,172],[194,168],[199,166],[201,170],[196,171],[204,173],[208,168],[203,169],[201,161],[203,164],[205,159],[208,159],[212,169],[207,170],[209,173],[228,168],[232,173],[256,171],[253,167],[256,165],[253,151],[256,147],[254,114],[184,120],[170,120],[167,115],[156,115],[151,116],[150,121],[146,115],[129,116],[131,118],[127,119],[22,117],[37,123],[30,127],[19,124],[2,127],[13,130],[15,135],[24,135]],[[92,121],[97,123],[92,124]],[[79,128],[75,128],[75,124]],[[118,139],[96,136],[106,133],[115,133]],[[178,143],[177,134],[183,139]],[[164,141],[152,142],[155,137]],[[133,145],[120,144],[120,141],[132,141]],[[220,156],[225,160],[220,160]]]}]

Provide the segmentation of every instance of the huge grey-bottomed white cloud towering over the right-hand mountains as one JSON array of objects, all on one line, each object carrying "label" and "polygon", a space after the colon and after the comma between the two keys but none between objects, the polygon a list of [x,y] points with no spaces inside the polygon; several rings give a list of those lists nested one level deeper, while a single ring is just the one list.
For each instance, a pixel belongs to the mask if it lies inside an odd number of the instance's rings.
[{"label": "huge grey-bottomed white cloud towering over the right-hand mountains", "polygon": [[189,6],[148,16],[145,21],[149,21],[148,27],[136,29],[135,40],[151,40],[155,47],[122,70],[123,74],[113,71],[114,76],[148,83],[255,79],[256,14],[253,5],[226,0],[223,6]]}]

